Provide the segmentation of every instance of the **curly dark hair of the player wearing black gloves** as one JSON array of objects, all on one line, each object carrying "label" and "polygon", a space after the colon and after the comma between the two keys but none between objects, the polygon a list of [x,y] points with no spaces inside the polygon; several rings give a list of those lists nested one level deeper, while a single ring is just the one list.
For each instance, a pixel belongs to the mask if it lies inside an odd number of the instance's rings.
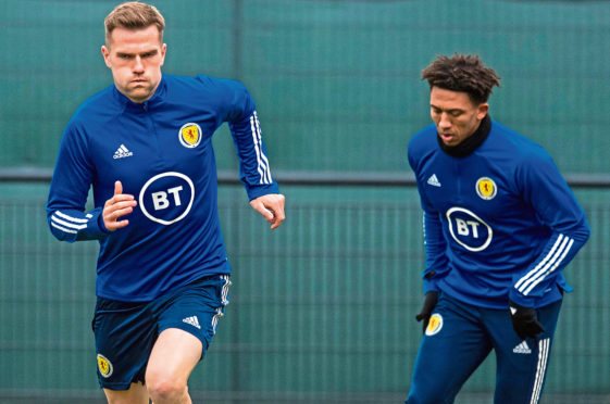
[{"label": "curly dark hair of the player wearing black gloves", "polygon": [[458,54],[451,58],[438,55],[422,72],[430,88],[466,92],[476,104],[487,102],[491,88],[500,87],[500,77],[493,68],[485,67],[478,55]]}]

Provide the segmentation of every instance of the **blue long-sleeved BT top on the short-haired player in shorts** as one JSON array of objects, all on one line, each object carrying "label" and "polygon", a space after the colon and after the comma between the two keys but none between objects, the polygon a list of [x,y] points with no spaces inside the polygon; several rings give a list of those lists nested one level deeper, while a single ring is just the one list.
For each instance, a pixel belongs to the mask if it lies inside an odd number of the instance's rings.
[{"label": "blue long-sleeved BT top on the short-haired player in shorts", "polygon": [[[96,293],[148,301],[202,276],[228,274],[212,135],[227,122],[250,200],[277,193],[256,105],[234,80],[163,75],[134,103],[111,86],[89,98],[62,137],[47,216],[60,240],[99,240]],[[120,180],[137,201],[109,232],[101,217]],[[92,186],[95,207],[85,212]]]}]

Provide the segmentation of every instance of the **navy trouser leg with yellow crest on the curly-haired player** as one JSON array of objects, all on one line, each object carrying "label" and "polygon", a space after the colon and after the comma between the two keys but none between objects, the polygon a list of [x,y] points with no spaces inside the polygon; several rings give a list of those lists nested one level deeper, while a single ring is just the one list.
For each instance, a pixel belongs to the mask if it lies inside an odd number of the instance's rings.
[{"label": "navy trouser leg with yellow crest on the curly-haired player", "polygon": [[441,294],[418,352],[407,403],[452,403],[490,350],[478,310]]}]

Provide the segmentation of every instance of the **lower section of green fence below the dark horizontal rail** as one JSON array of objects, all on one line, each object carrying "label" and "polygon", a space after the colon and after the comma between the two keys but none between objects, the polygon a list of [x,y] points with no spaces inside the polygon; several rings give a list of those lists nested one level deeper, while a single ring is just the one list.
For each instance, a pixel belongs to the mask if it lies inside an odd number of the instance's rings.
[{"label": "lower section of green fence below the dark horizontal rail", "polygon": [[[97,243],[50,236],[46,186],[0,190],[22,195],[0,199],[0,403],[101,403],[90,331]],[[415,190],[284,192],[288,218],[272,232],[240,187],[221,188],[234,286],[190,379],[196,402],[402,401],[421,336],[413,319],[424,265]],[[544,403],[610,397],[608,197],[577,191],[593,233],[565,270],[575,292],[561,313]],[[459,403],[490,402],[494,361],[469,380]]]}]

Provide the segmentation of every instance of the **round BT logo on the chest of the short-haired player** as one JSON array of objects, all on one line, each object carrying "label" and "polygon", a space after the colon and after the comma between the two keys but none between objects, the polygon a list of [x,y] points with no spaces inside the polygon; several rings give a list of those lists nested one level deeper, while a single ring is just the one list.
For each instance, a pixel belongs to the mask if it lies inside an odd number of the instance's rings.
[{"label": "round BT logo on the chest of the short-haired player", "polygon": [[195,200],[195,187],[184,174],[162,173],[144,185],[138,200],[146,217],[167,226],[188,215]]}]

